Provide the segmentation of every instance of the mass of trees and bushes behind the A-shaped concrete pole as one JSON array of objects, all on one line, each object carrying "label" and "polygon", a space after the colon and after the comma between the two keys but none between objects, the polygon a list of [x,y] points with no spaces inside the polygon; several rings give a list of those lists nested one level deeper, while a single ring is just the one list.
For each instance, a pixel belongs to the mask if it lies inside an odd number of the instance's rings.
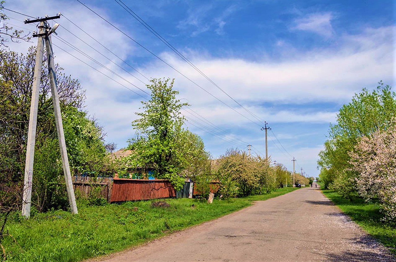
[{"label": "mass of trees and bushes behind the A-shaped concrete pole", "polygon": [[[26,55],[0,51],[0,188],[9,188],[8,192],[15,194],[23,183],[25,171],[35,56],[34,47],[29,48]],[[103,166],[106,167],[108,161],[105,157],[103,130],[94,120],[88,119],[85,112],[80,111],[84,104],[84,91],[78,80],[66,76],[62,71],[63,68],[55,65],[71,171],[73,174],[87,170],[104,172]],[[38,211],[66,209],[68,201],[46,57],[38,101],[32,203]],[[20,199],[12,199],[18,205],[21,203]],[[1,202],[2,206],[14,204],[12,201]]]}]

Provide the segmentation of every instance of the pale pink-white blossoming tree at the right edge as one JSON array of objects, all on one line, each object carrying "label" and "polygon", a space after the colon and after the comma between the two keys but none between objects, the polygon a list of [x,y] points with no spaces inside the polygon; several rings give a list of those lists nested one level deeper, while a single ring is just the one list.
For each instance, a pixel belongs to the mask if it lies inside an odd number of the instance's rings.
[{"label": "pale pink-white blossoming tree at the right edge", "polygon": [[396,225],[396,118],[388,127],[363,137],[349,153],[358,172],[358,192],[366,201],[378,198],[384,220]]}]

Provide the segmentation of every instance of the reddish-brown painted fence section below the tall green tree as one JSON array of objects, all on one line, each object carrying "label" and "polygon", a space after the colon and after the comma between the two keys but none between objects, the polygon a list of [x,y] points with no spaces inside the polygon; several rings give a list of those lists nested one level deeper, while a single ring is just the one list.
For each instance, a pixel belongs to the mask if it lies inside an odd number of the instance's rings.
[{"label": "reddish-brown painted fence section below the tall green tree", "polygon": [[175,197],[168,180],[114,178],[110,202]]}]

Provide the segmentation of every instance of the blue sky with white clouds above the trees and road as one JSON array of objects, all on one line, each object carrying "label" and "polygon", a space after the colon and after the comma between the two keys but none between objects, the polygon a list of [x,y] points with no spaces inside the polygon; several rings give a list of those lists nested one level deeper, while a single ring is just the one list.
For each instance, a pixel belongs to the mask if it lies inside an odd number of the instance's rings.
[{"label": "blue sky with white clouds above the trees and road", "polygon": [[[145,77],[175,78],[179,97],[205,119],[185,109],[186,126],[204,139],[214,158],[227,148],[247,150],[247,144],[253,146],[253,154],[265,155],[264,132],[260,127],[267,121],[272,128],[268,132],[271,159],[292,170],[291,159],[295,157],[296,171],[303,168],[307,175],[316,177],[317,155],[339,108],[363,87],[373,89],[380,80],[393,86],[396,80],[392,0],[123,1],[255,117],[177,57],[116,1],[81,2],[227,105],[76,0],[8,0],[5,7],[34,17],[61,11]],[[14,28],[35,30],[34,25],[21,22],[25,16],[4,11]],[[118,148],[124,147],[134,135],[131,121],[136,118],[141,97],[60,48],[141,95],[145,96],[130,83],[147,91],[142,82],[148,81],[65,17],[57,21],[62,26],[57,29],[59,36],[128,80],[120,79],[53,37],[53,43],[59,46],[54,47],[56,62],[86,89],[86,110],[105,127],[108,141],[116,142]],[[9,46],[25,53],[35,44],[33,39],[30,43]]]}]

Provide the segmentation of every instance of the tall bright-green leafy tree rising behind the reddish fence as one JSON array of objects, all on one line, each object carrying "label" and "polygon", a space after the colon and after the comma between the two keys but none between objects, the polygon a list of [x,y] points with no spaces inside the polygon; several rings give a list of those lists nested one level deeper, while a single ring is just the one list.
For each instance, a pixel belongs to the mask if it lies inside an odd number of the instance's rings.
[{"label": "tall bright-green leafy tree rising behind the reddish fence", "polygon": [[[173,90],[174,80],[152,79],[147,88],[151,99],[142,101],[143,112],[137,112],[137,120],[132,122],[136,137],[129,140],[133,154],[127,158],[129,168],[155,169],[155,176],[171,181],[176,190],[184,184],[180,174],[187,167],[187,158],[181,148],[185,134],[185,121],[180,110],[187,103],[181,103]],[[184,150],[184,151],[183,151]],[[188,150],[187,150],[188,151]]]}]

